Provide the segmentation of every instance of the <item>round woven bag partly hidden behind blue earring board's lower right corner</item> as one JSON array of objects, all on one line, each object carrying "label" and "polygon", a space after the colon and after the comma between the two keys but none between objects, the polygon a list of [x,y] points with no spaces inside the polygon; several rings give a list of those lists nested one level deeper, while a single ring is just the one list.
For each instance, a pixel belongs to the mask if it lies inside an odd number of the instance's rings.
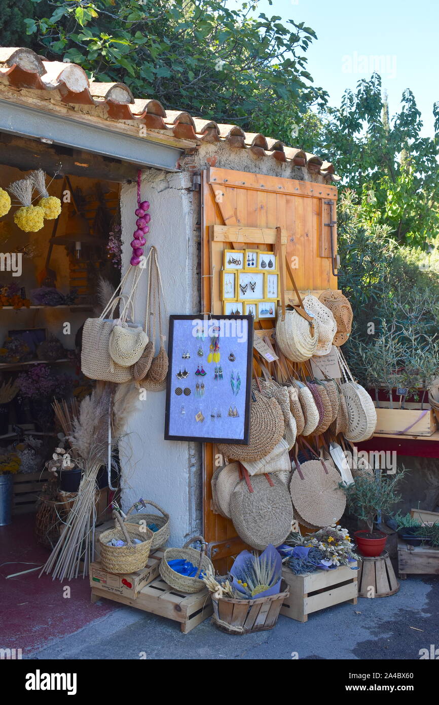
[{"label": "round woven bag partly hidden behind blue earring board's lower right corner", "polygon": [[279,443],[285,431],[283,413],[276,399],[253,392],[250,407],[250,440],[248,445],[218,443],[220,453],[232,460],[260,460]]}]

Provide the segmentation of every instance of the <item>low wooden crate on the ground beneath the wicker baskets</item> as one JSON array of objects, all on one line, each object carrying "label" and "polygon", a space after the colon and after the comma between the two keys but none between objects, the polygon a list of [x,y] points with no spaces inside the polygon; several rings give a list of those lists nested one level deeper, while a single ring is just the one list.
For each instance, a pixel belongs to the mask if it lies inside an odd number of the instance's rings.
[{"label": "low wooden crate on the ground beneath the wicker baskets", "polygon": [[213,612],[211,594],[207,588],[187,594],[175,590],[161,577],[144,587],[137,599],[109,594],[99,587],[92,587],[92,602],[97,602],[101,597],[179,622],[183,634],[204,622]]}]

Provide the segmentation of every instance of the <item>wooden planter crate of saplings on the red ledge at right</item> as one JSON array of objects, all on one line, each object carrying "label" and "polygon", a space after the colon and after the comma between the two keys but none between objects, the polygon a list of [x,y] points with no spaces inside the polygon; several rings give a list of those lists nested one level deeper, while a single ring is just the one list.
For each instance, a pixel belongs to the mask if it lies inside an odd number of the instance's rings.
[{"label": "wooden planter crate of saplings on the red ledge at right", "polygon": [[376,434],[404,431],[404,436],[432,436],[438,429],[438,419],[428,404],[424,404],[423,409],[416,403],[407,403],[406,409],[390,409],[389,405],[389,402],[381,401],[380,407],[376,408]]}]

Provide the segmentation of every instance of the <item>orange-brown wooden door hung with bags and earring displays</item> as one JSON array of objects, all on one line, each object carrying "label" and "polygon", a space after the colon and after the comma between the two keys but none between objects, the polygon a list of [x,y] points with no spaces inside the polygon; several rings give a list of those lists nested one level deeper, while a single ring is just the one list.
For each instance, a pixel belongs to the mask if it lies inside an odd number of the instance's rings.
[{"label": "orange-brown wooden door hung with bags and earring displays", "polygon": [[[252,247],[262,250],[273,249],[273,231],[281,228],[283,257],[287,258],[300,292],[319,296],[327,288],[337,289],[328,226],[330,203],[333,204],[335,220],[336,201],[337,189],[332,185],[221,168],[204,171],[202,311],[206,314],[222,312],[219,293],[221,253],[225,246],[230,247],[230,240],[220,243],[221,247],[218,248],[218,235],[215,242],[212,239],[210,226],[214,225],[235,226],[233,231],[228,228],[228,236],[230,232],[235,233],[231,237],[235,237],[237,243],[247,243],[247,247],[248,243],[255,243]],[[252,231],[248,239],[245,228],[259,228],[260,234],[255,235]],[[333,255],[336,250],[334,226]],[[285,276],[285,300],[296,300],[288,274]],[[268,327],[272,327],[272,324],[268,324]],[[214,513],[212,508],[211,477],[216,467],[221,467],[220,461],[216,448],[211,443],[204,443],[204,537],[211,544],[212,558],[216,561],[217,570],[221,572],[228,568],[228,557],[245,546],[236,536],[232,522]]]}]

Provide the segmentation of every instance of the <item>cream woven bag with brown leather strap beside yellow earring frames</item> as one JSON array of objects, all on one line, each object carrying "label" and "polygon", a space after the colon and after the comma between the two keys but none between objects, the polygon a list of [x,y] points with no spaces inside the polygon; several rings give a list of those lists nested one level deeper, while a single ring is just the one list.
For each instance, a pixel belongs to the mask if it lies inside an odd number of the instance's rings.
[{"label": "cream woven bag with brown leather strap beside yellow earring frames", "polygon": [[304,362],[314,355],[319,343],[319,324],[314,321],[314,333],[307,319],[295,309],[285,311],[285,319],[279,313],[276,323],[276,341],[280,352],[293,362]]}]

